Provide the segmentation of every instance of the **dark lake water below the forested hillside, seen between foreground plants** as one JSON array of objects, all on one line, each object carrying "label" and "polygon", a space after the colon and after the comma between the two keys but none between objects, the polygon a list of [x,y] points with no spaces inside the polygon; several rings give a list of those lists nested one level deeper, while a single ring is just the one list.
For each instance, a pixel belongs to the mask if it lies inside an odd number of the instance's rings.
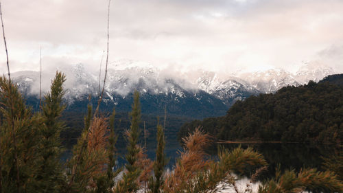
[{"label": "dark lake water below the forested hillside, seen between foreground plants", "polygon": [[[170,142],[168,144],[168,142]],[[254,150],[260,152],[265,160],[269,163],[268,172],[265,172],[264,177],[274,176],[275,168],[280,166],[281,170],[294,169],[300,170],[300,168],[318,168],[322,170],[322,157],[331,157],[332,155],[338,155],[342,148],[329,144],[310,145],[310,144],[217,144],[218,146],[224,146],[229,150],[241,146],[242,148],[252,147]],[[217,153],[217,145],[214,144],[212,148],[207,150],[209,155],[215,159]],[[154,160],[155,150],[154,146],[148,146],[147,157]],[[179,151],[182,150],[180,144],[176,141],[167,141],[165,154],[169,159],[167,168],[172,169],[176,163],[176,159],[179,157]],[[123,166],[125,163],[124,155],[125,150],[118,150],[118,166]],[[71,157],[71,150],[67,149],[62,155],[62,160],[65,161]]]}]

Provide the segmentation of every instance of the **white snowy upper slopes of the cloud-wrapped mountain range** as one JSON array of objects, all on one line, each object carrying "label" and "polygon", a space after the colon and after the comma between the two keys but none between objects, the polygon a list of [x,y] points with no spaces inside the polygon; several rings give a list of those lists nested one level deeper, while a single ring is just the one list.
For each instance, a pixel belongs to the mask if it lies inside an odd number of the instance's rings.
[{"label": "white snowy upper slopes of the cloud-wrapped mountain range", "polygon": [[[135,66],[131,60],[111,63],[108,68],[106,80],[106,101],[115,102],[115,98],[125,98],[137,89],[142,95],[167,95],[178,101],[180,98],[196,97],[197,100],[210,100],[209,96],[200,96],[207,93],[211,97],[221,100],[230,106],[236,100],[244,100],[250,95],[258,93],[272,93],[287,85],[305,84],[309,80],[318,81],[324,76],[333,73],[332,69],[318,66],[304,65],[296,74],[283,69],[270,69],[252,73],[241,73],[237,76],[218,75],[213,71],[184,73],[180,76],[171,76],[156,67],[144,64]],[[142,66],[142,65],[140,65]],[[84,65],[71,65],[62,67],[60,71],[66,73],[66,98],[69,101],[84,100],[88,94],[99,93],[99,71],[85,69]],[[36,71],[21,71],[12,73],[14,81],[24,93],[38,95],[39,73]],[[54,77],[53,73],[43,71],[43,78]],[[104,78],[104,72],[101,79]],[[51,81],[43,80],[43,93],[48,91]],[[100,82],[102,88],[103,81]],[[199,92],[203,91],[203,92]],[[201,98],[201,99],[200,99]]]}]

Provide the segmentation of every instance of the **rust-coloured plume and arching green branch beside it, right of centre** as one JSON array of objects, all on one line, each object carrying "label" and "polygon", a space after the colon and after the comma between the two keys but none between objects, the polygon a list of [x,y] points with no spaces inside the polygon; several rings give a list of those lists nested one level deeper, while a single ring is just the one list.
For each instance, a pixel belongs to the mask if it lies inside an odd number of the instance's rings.
[{"label": "rust-coloured plume and arching green branch beside it, right of centre", "polygon": [[[263,156],[248,148],[228,151],[220,148],[219,160],[204,156],[204,147],[209,135],[198,128],[185,137],[185,151],[182,152],[174,172],[167,177],[165,192],[220,192],[228,188],[237,190],[235,181],[239,175],[248,174],[254,178],[267,165]],[[200,155],[200,156],[199,156]]]}]

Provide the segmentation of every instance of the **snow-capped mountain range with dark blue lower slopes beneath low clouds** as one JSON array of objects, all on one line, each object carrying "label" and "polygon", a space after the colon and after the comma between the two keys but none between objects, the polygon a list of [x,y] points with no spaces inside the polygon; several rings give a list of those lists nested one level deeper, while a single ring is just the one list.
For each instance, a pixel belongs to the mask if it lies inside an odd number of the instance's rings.
[{"label": "snow-capped mountain range with dark blue lower slopes beneath low clouds", "polygon": [[[132,61],[125,63],[128,63],[127,67],[113,63],[108,68],[103,108],[112,109],[116,106],[122,111],[129,111],[132,93],[137,90],[141,93],[145,113],[163,113],[164,106],[168,106],[169,113],[187,116],[198,113],[198,117],[224,115],[237,100],[259,93],[272,93],[287,85],[297,86],[309,80],[318,81],[333,73],[329,68],[303,67],[296,74],[283,69],[270,69],[223,76],[213,71],[198,70],[175,76],[150,65],[137,67]],[[85,109],[89,94],[93,95],[94,100],[97,98],[104,83],[104,72],[99,74],[99,71],[91,71],[82,64],[63,67],[60,71],[67,76],[65,99],[69,108]],[[20,71],[12,73],[12,77],[25,95],[38,96],[38,72]],[[53,77],[54,73],[43,71],[43,93],[49,90],[51,83],[46,79],[51,80]]]}]

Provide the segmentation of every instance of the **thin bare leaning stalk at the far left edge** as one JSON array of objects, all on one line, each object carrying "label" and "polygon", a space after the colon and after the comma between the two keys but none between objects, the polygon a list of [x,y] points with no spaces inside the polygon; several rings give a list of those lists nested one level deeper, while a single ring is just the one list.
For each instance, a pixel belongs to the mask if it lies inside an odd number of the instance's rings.
[{"label": "thin bare leaning stalk at the far left edge", "polygon": [[[7,62],[7,69],[8,69],[8,87],[10,89],[10,96],[12,94],[12,82],[11,82],[11,75],[10,75],[10,64],[8,60],[8,49],[7,49],[7,43],[5,38],[5,27],[3,26],[3,19],[2,19],[2,9],[1,9],[1,1],[0,1],[0,18],[1,18],[1,27],[3,32],[3,42],[5,43],[5,51],[6,51],[6,62]],[[17,186],[17,192],[20,193],[20,177],[19,177],[19,163],[18,163],[18,151],[16,149],[16,130],[14,128],[14,115],[13,115],[13,102],[12,98],[10,97],[10,104],[11,104],[11,124],[12,124],[12,137],[13,137],[13,145],[14,145],[14,164],[16,165],[16,186]]]}]

